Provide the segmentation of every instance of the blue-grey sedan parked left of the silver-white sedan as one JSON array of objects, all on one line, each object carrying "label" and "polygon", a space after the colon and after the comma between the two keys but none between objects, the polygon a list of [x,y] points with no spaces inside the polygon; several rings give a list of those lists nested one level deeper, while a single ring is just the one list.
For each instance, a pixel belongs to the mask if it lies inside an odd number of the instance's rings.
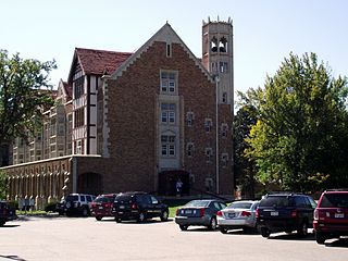
[{"label": "blue-grey sedan parked left of the silver-white sedan", "polygon": [[222,200],[191,200],[176,210],[175,223],[178,224],[182,231],[186,231],[192,225],[207,226],[209,229],[216,229],[217,211],[224,208],[226,208],[226,203]]}]

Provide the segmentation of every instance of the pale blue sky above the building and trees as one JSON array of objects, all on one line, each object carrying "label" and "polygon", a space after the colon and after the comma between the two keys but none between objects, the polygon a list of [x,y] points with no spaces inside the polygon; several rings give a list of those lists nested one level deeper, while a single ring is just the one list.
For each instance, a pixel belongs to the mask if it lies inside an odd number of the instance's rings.
[{"label": "pale blue sky above the building and trees", "polygon": [[346,0],[3,0],[0,49],[55,59],[51,83],[66,80],[75,47],[135,51],[166,21],[201,57],[201,26],[233,20],[235,89],[263,86],[290,52],[315,52],[333,75],[348,75]]}]

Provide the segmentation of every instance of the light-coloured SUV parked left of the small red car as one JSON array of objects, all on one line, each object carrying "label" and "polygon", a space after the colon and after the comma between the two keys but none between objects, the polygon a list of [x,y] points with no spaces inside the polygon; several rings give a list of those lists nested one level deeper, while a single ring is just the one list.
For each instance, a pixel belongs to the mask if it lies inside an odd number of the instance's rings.
[{"label": "light-coloured SUV parked left of the small red car", "polygon": [[60,214],[66,214],[66,216],[72,216],[74,214],[88,216],[90,215],[91,201],[95,199],[96,196],[94,195],[70,194],[57,204],[57,211]]}]

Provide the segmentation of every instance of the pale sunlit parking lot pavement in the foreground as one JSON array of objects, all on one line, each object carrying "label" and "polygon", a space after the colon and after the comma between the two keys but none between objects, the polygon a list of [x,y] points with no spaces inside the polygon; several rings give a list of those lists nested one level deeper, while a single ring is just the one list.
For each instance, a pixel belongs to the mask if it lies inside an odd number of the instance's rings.
[{"label": "pale sunlit parking lot pavement in the foreground", "polygon": [[24,217],[0,227],[0,260],[347,260],[348,239],[318,245],[312,235],[182,232],[173,220]]}]

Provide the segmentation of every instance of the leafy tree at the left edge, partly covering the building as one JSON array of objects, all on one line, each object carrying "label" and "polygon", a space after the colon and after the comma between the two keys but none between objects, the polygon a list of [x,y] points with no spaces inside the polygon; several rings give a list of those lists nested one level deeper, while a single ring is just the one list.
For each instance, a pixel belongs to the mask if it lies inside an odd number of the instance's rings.
[{"label": "leafy tree at the left edge, partly covering the building", "polygon": [[42,110],[52,105],[49,72],[55,62],[9,58],[0,50],[0,145],[14,137],[27,139],[40,126]]}]

